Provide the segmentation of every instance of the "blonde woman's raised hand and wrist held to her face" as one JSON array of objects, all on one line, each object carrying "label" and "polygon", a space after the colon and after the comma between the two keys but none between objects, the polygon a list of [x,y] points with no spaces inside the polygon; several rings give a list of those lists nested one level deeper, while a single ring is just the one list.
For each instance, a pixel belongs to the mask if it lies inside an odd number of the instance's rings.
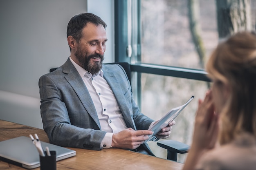
[{"label": "blonde woman's raised hand and wrist held to her face", "polygon": [[214,148],[218,131],[218,115],[214,111],[212,92],[208,91],[204,100],[198,101],[193,141],[183,170],[193,170],[204,151]]}]

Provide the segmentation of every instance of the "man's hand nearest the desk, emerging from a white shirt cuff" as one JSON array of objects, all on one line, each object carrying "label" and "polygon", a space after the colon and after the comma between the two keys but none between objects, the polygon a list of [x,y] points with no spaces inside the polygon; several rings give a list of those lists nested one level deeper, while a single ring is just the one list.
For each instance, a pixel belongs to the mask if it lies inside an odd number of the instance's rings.
[{"label": "man's hand nearest the desk, emerging from a white shirt cuff", "polygon": [[150,130],[135,131],[132,128],[128,128],[113,134],[111,146],[113,148],[136,149],[148,139],[148,135],[152,134],[153,132]]}]

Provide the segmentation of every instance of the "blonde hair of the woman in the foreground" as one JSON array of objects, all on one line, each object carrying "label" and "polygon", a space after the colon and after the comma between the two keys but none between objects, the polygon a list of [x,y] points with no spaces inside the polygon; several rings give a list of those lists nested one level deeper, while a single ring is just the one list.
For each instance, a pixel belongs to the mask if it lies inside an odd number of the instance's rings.
[{"label": "blonde hair of the woman in the foreground", "polygon": [[211,79],[231,88],[220,113],[220,144],[240,132],[256,136],[256,34],[244,31],[220,43],[206,71]]}]

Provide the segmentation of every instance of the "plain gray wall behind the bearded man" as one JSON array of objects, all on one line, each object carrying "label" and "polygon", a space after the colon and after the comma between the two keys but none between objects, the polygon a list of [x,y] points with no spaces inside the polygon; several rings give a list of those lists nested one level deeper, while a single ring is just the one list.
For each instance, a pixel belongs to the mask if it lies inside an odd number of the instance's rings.
[{"label": "plain gray wall behind the bearded man", "polygon": [[0,119],[43,128],[38,79],[70,55],[72,16],[92,12],[108,24],[104,62],[113,62],[113,11],[113,0],[1,0]]}]

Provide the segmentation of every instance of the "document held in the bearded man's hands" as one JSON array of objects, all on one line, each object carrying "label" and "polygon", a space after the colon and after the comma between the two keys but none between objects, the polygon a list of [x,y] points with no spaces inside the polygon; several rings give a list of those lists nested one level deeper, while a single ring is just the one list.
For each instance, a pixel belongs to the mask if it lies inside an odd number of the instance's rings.
[{"label": "document held in the bearded man's hands", "polygon": [[155,140],[156,139],[155,135],[157,135],[157,133],[162,128],[165,128],[169,123],[171,123],[171,121],[173,121],[175,117],[177,117],[177,115],[181,113],[181,111],[189,104],[189,102],[191,102],[193,98],[194,96],[190,97],[190,99],[182,106],[171,109],[168,113],[166,113],[166,115],[164,115],[164,117],[162,117],[157,123],[155,123],[152,128],[148,129],[153,131],[154,133],[150,135],[148,140],[146,140],[144,143]]}]

